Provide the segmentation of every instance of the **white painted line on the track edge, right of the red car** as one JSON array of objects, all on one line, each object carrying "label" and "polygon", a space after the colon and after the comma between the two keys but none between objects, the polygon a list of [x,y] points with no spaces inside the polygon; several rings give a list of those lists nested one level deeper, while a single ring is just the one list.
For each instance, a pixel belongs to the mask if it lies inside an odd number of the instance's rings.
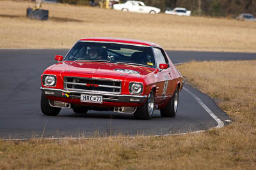
[{"label": "white painted line on the track edge, right of the red car", "polygon": [[191,92],[190,90],[186,89],[185,87],[183,88],[186,92],[188,92],[191,96],[194,97],[194,99],[202,106],[202,108],[204,108],[205,111],[207,111],[207,113],[209,113],[209,115],[214,118],[214,120],[218,123],[218,125],[215,128],[221,128],[224,126],[224,123],[220,120],[220,118],[218,118],[205,104],[204,102],[201,101],[201,99],[199,99],[199,97],[197,97],[195,94],[193,94],[193,92]]}]

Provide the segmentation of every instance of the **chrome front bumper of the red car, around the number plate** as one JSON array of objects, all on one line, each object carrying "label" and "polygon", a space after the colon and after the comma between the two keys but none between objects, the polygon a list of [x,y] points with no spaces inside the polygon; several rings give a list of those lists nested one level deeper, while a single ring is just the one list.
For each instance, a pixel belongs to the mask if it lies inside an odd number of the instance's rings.
[{"label": "chrome front bumper of the red car, around the number plate", "polygon": [[81,91],[69,91],[61,89],[50,89],[40,87],[40,90],[45,94],[45,96],[53,97],[65,97],[70,99],[80,99],[81,94],[102,96],[103,101],[106,102],[116,102],[116,103],[145,103],[148,96],[134,96],[134,95],[116,95],[116,94],[104,94],[95,92],[81,92]]}]

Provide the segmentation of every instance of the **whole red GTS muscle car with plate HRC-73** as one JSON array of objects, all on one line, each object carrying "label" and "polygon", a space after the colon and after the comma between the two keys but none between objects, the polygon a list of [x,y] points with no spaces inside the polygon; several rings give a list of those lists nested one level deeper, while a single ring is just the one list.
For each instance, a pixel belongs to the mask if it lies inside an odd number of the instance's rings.
[{"label": "whole red GTS muscle car with plate HRC-73", "polygon": [[184,81],[161,46],[118,38],[84,38],[41,76],[41,110],[56,116],[61,108],[134,113],[150,119],[175,117]]}]

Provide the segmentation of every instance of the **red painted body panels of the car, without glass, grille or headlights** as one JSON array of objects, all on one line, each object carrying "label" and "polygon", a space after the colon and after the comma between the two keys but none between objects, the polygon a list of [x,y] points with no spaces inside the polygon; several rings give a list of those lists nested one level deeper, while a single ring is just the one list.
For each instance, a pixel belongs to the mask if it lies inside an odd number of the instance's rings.
[{"label": "red painted body panels of the car, without glass, grille or headlights", "polygon": [[[159,45],[154,43],[148,43],[145,41],[136,41],[132,39],[116,39],[116,38],[85,38],[80,39],[79,41],[107,41],[107,42],[116,42],[116,43],[129,43],[131,45],[147,45],[147,46],[157,46]],[[165,53],[168,57],[167,53]],[[58,55],[56,55],[58,56]],[[60,57],[57,57],[60,59]],[[129,82],[136,81],[144,84],[143,94],[141,96],[148,96],[150,90],[154,89],[156,94],[156,104],[158,108],[163,108],[166,103],[170,100],[177,85],[179,85],[180,90],[182,89],[183,78],[176,67],[173,65],[172,61],[169,59],[168,64],[162,64],[163,70],[159,71],[157,68],[150,67],[141,67],[141,66],[130,66],[125,64],[113,64],[107,62],[74,62],[74,61],[63,61],[58,64],[54,64],[47,69],[45,69],[44,74],[54,74],[57,77],[56,87],[45,87],[42,84],[42,87],[51,88],[51,89],[63,89],[63,78],[64,76],[77,76],[77,77],[86,77],[86,78],[104,78],[104,79],[115,79],[122,81],[122,93],[121,95],[132,95],[129,92]],[[139,71],[140,74],[128,74],[120,73],[114,69],[132,69],[134,71]],[[41,80],[42,80],[41,76]],[[166,95],[163,96],[164,83],[168,81],[168,89],[166,90]],[[137,95],[138,96],[138,95]],[[67,103],[73,104],[87,104],[92,106],[132,106],[139,107],[143,103],[112,103],[112,102],[103,102],[102,104],[90,104],[90,103],[81,103],[79,99],[70,99],[65,97],[49,97],[49,99],[55,99],[59,101],[65,101]]]}]

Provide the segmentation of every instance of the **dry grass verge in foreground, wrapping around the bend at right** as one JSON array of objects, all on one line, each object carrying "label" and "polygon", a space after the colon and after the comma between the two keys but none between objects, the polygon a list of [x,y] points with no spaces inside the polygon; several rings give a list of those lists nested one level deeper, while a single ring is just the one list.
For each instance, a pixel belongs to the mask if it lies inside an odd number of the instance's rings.
[{"label": "dry grass verge in foreground, wrapping around the bend at right", "polygon": [[0,169],[256,169],[256,60],[180,65],[234,122],[182,136],[0,140]]}]

